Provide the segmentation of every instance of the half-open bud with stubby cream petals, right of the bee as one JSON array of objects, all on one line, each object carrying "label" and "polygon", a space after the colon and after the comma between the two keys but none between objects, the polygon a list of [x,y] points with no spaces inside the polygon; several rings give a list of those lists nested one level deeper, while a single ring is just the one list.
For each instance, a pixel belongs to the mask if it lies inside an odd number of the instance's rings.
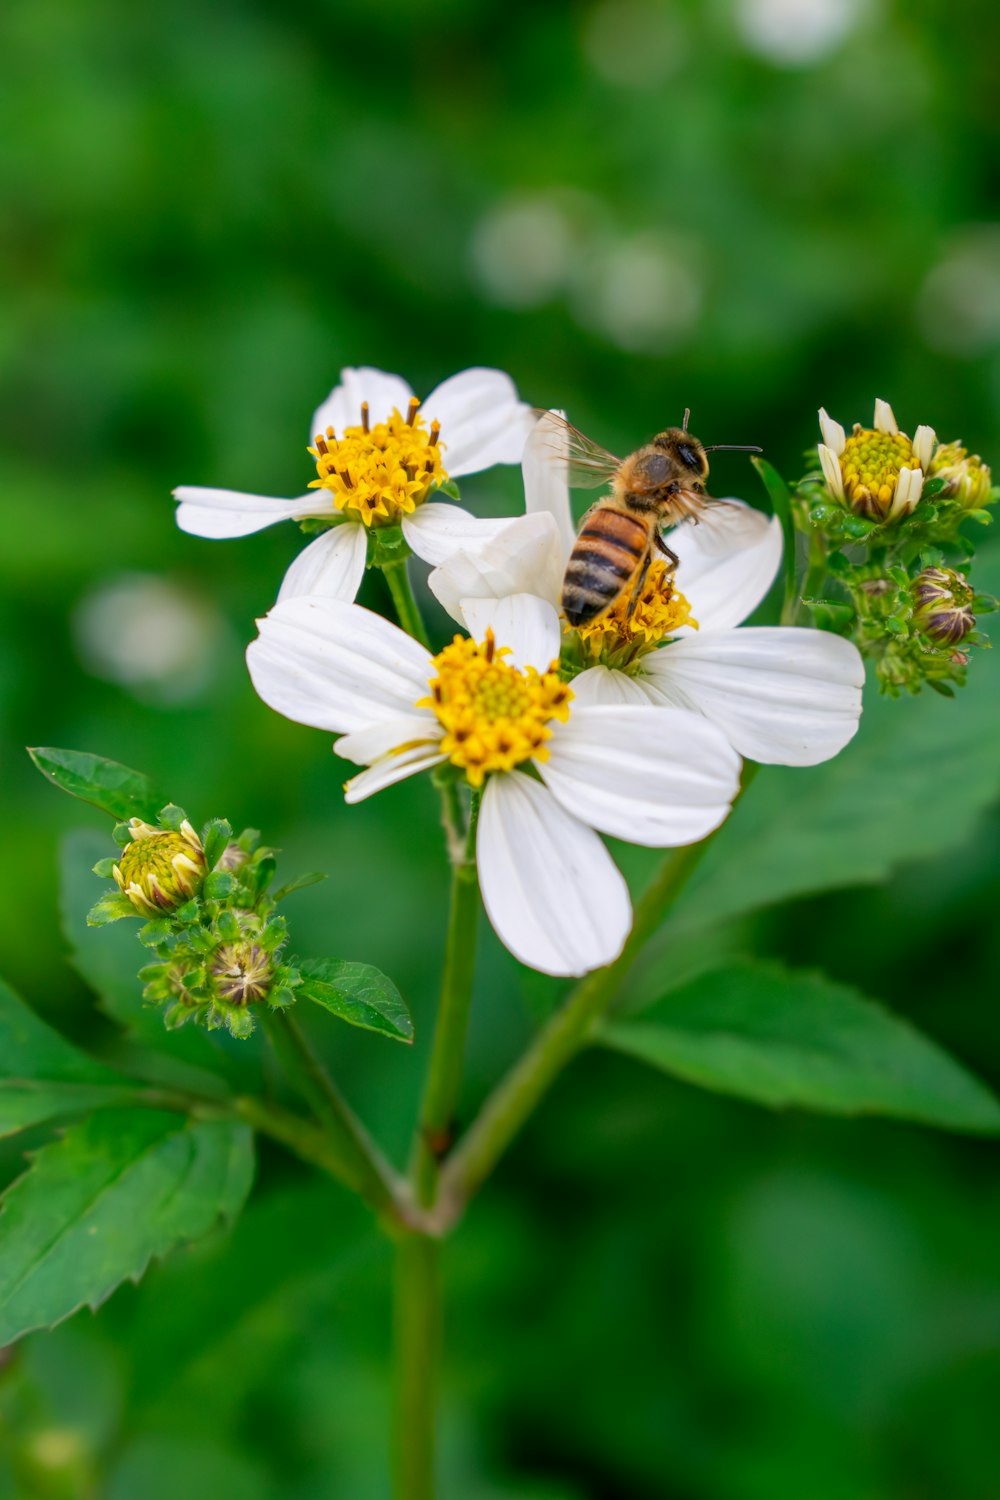
[{"label": "half-open bud with stubby cream petals, right of the bee", "polygon": [[889,402],[876,400],[873,426],[856,422],[850,436],[820,406],[820,465],[834,500],[871,520],[900,520],[916,510],[934,456],[934,428],[919,426],[910,441]]}]

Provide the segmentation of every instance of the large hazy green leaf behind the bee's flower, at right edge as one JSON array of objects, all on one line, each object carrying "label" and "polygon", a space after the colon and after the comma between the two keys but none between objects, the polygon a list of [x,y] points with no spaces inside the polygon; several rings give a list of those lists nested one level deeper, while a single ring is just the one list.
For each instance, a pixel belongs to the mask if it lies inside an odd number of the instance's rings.
[{"label": "large hazy green leaf behind the bee's flower, at right edge", "polygon": [[[979,556],[1000,586],[1000,548]],[[1000,652],[976,652],[955,699],[880,698],[870,684],[861,730],[819,766],[763,766],[708,849],[669,928],[883,880],[898,864],[961,848],[1000,794],[996,704]],[[625,854],[636,870],[643,856]]]}]

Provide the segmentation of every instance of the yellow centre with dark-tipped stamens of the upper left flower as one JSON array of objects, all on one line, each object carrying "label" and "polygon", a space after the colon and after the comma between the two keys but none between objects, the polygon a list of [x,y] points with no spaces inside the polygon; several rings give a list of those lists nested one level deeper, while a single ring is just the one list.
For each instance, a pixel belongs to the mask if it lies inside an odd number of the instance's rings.
[{"label": "yellow centre with dark-tipped stamens of the upper left flower", "polygon": [[441,464],[441,424],[432,422],[427,429],[418,408],[414,396],[405,417],[393,410],[387,422],[370,426],[364,400],[357,428],[345,428],[339,438],[327,428],[309,448],[319,476],[309,489],[328,489],[337,510],[354,512],[366,526],[391,526],[412,514],[448,480]]}]

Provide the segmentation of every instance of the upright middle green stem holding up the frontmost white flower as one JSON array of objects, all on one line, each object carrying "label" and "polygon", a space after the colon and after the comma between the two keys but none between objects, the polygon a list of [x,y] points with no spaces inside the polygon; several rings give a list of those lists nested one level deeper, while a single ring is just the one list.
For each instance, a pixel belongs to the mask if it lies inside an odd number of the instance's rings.
[{"label": "upright middle green stem holding up the frontmost white flower", "polygon": [[420,1110],[420,1136],[412,1172],[417,1200],[424,1206],[432,1203],[435,1197],[438,1168],[451,1144],[454,1108],[462,1088],[465,1034],[469,1023],[475,969],[475,932],[480,915],[480,886],[475,868],[477,822],[478,795],[474,795],[462,858],[453,861],[451,866],[451,903],[441,976],[441,1004]]}]

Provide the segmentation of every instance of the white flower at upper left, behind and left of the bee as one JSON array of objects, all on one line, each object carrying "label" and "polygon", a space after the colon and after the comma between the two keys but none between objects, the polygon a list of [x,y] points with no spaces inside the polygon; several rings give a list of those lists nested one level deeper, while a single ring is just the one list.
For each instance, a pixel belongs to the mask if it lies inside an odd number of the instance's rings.
[{"label": "white flower at upper left, behind and left of the bee", "polygon": [[345,369],[312,418],[318,477],[307,495],[276,500],[181,484],[174,490],[177,525],[219,538],[277,520],[328,518],[336,524],[295,558],[277,597],[349,602],[361,585],[372,528],[402,525],[411,550],[435,564],[502,525],[429,496],[462,474],[517,464],[534,420],[502,370],[462,370],[420,402],[400,375]]}]

